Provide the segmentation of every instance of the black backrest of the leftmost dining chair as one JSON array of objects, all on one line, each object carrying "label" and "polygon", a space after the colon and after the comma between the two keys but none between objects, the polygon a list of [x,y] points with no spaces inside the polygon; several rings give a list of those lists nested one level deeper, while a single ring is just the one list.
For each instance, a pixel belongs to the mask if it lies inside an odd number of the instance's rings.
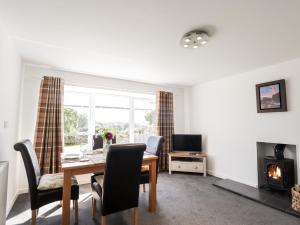
[{"label": "black backrest of the leftmost dining chair", "polygon": [[16,151],[21,152],[27,174],[31,202],[37,194],[37,186],[41,177],[40,166],[35,149],[30,140],[23,140],[14,145]]}]

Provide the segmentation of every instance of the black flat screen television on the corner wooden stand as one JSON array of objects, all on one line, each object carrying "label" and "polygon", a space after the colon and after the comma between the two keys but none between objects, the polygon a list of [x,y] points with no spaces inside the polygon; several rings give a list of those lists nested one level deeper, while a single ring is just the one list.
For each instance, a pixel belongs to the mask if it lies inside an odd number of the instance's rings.
[{"label": "black flat screen television on the corner wooden stand", "polygon": [[202,136],[201,134],[173,134],[173,151],[201,152]]}]

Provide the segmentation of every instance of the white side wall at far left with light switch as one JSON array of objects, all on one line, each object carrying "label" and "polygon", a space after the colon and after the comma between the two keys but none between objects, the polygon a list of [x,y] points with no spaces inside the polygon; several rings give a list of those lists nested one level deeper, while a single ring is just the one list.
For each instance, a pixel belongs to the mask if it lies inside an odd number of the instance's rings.
[{"label": "white side wall at far left with light switch", "polygon": [[17,152],[13,145],[18,137],[20,84],[21,58],[0,27],[0,161],[9,161],[7,212],[17,196]]}]

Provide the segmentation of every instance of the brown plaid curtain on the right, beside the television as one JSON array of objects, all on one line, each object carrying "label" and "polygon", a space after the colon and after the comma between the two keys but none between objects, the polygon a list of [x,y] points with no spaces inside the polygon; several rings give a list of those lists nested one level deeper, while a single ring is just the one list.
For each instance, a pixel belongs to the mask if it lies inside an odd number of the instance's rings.
[{"label": "brown plaid curtain on the right, beside the television", "polygon": [[157,134],[164,137],[163,151],[159,160],[159,168],[169,168],[168,153],[171,151],[172,134],[174,133],[173,93],[159,91],[156,95]]}]

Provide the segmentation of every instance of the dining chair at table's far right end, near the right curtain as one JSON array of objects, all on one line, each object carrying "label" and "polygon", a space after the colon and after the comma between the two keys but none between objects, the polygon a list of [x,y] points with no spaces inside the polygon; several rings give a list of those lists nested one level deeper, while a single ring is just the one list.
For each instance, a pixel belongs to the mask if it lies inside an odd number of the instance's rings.
[{"label": "dining chair at table's far right end, near the right curtain", "polygon": [[[159,168],[159,158],[163,149],[164,138],[162,136],[150,136],[147,140],[147,148],[145,154],[156,155],[158,157],[158,161],[156,164],[156,179],[158,177],[158,168]],[[143,191],[146,191],[145,184],[150,182],[150,171],[149,166],[142,166],[142,173],[140,184],[143,185]]]}]

